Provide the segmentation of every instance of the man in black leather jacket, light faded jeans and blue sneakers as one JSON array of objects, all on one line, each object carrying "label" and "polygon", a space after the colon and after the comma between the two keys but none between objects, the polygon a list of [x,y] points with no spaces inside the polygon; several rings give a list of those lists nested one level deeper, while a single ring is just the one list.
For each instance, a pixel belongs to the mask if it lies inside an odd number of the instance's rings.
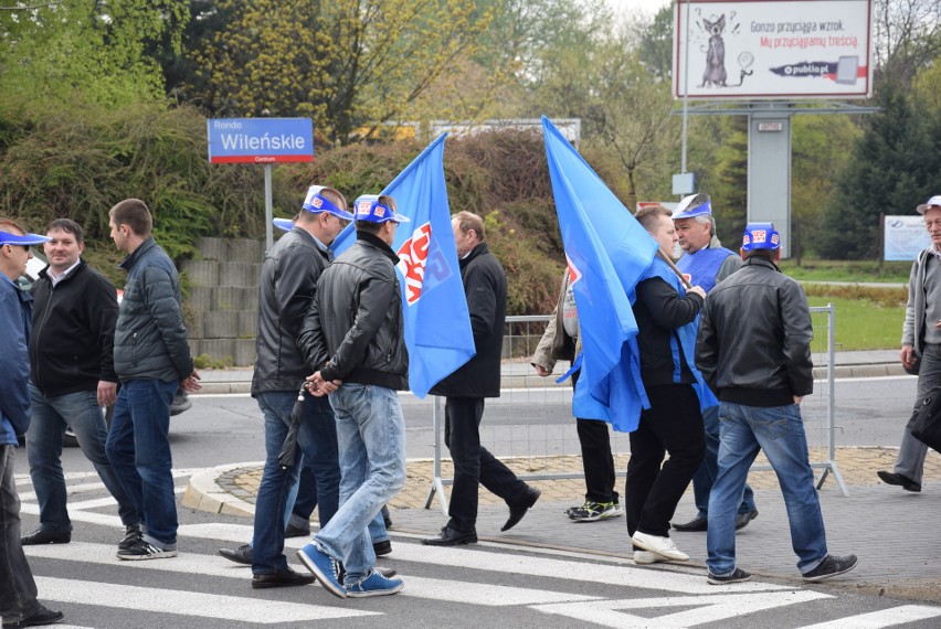
[{"label": "man in black leather jacket, light faded jeans and blue sneakers", "polygon": [[[395,594],[402,579],[376,569],[369,522],[405,486],[405,422],[398,392],[409,387],[402,295],[391,245],[399,223],[391,196],[356,202],[357,241],[320,277],[300,345],[316,370],[315,395],[330,394],[340,454],[340,509],[297,552],[340,598]],[[346,576],[341,580],[340,564]]]}]

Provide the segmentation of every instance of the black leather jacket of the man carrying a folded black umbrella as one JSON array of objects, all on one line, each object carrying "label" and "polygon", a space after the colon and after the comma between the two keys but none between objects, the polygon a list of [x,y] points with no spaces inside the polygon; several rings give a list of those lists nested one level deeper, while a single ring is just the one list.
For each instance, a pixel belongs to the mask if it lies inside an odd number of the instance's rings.
[{"label": "black leather jacket of the man carrying a folded black umbrella", "polygon": [[252,395],[298,391],[307,369],[297,344],[300,324],[317,292],[330,254],[300,227],[294,227],[265,255],[258,295],[258,330]]}]

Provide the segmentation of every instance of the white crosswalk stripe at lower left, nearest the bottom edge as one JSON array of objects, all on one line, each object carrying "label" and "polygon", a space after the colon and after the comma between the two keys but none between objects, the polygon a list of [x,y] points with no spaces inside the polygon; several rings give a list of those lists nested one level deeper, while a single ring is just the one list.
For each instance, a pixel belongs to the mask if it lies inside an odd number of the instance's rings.
[{"label": "white crosswalk stripe at lower left, nearest the bottom edge", "polygon": [[[161,561],[172,562],[175,559]],[[182,589],[157,590],[152,587],[52,577],[36,577],[35,580],[36,586],[42,591],[43,600],[114,607],[117,609],[136,609],[179,616],[195,616],[200,618],[222,618],[239,622],[295,625],[304,620],[379,616],[376,611],[298,603],[281,603],[264,598],[251,598],[249,596],[198,594]]]}]

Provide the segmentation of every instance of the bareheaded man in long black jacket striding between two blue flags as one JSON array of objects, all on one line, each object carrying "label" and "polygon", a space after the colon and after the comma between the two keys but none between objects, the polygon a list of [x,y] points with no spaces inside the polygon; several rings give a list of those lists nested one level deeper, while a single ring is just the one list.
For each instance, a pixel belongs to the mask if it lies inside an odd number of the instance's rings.
[{"label": "bareheaded man in long black jacket striding between two blue flags", "polygon": [[454,484],[447,510],[451,519],[438,535],[422,540],[423,544],[432,546],[477,542],[479,484],[504,499],[509,507],[509,519],[501,531],[516,525],[539,499],[538,489],[519,480],[480,445],[479,425],[484,415],[484,399],[500,395],[507,276],[484,242],[484,221],[479,216],[459,212],[451,224],[477,353],[432,388],[433,394],[446,396],[444,443],[454,461]]}]

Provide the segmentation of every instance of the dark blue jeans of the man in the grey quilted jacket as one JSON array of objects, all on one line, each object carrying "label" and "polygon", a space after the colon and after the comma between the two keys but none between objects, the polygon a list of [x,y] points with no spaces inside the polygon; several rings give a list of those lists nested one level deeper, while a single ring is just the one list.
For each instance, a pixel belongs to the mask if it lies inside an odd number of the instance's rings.
[{"label": "dark blue jeans of the man in the grey quilted jacket", "polygon": [[179,386],[177,380],[121,383],[105,443],[121,489],[141,514],[144,541],[165,551],[177,550],[170,404]]}]

